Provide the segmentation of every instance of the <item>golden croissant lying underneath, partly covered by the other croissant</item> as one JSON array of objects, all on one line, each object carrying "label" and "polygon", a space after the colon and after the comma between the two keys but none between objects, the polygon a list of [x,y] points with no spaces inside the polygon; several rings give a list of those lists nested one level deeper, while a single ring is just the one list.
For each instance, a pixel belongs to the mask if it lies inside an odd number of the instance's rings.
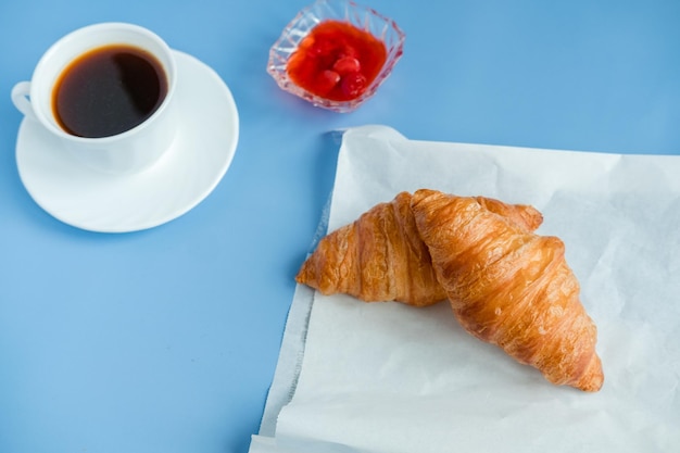
[{"label": "golden croissant lying underneath, partly covered by the other croissant", "polygon": [[[427,306],[445,300],[416,227],[411,198],[401,192],[323,238],[295,280],[324,294],[347,293],[366,302]],[[482,197],[476,200],[522,229],[533,230],[543,222],[532,206]]]}]

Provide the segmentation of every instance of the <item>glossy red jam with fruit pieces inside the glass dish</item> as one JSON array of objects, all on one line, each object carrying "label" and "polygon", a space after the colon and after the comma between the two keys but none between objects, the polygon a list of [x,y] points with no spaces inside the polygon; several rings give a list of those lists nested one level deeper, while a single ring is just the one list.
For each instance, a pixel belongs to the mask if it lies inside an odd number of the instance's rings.
[{"label": "glossy red jam with fruit pieces inside the glass dish", "polygon": [[349,22],[325,21],[302,39],[287,72],[299,87],[332,101],[358,98],[387,60],[385,43]]}]

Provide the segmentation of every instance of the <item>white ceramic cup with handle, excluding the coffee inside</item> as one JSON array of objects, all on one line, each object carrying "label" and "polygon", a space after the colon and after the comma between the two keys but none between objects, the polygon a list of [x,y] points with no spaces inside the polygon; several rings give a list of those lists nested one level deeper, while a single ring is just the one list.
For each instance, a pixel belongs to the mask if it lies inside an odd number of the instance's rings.
[{"label": "white ceramic cup with handle, excluding the coffee inside", "polygon": [[[160,106],[141,124],[117,135],[85,138],[68,134],[55,118],[53,89],[62,72],[84,53],[111,45],[133,46],[149,52],[163,67],[167,93]],[[54,152],[68,150],[86,165],[112,174],[143,171],[171,147],[176,127],[174,98],[177,86],[176,63],[169,47],[152,32],[133,24],[102,23],[86,26],[64,36],[39,60],[30,81],[12,89],[12,102],[27,117],[40,123],[55,138]]]}]

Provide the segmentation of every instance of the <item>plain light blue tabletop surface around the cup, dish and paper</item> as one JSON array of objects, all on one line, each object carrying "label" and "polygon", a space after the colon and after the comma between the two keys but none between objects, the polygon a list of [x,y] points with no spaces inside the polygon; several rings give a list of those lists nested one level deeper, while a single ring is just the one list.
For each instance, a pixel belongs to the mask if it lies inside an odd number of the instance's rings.
[{"label": "plain light blue tabletop surface around the cup, dish and paper", "polygon": [[[358,111],[315,109],[265,72],[308,0],[0,2],[0,452],[247,452],[293,276],[331,189],[327,131],[680,154],[680,2],[368,2],[405,52]],[[10,90],[64,34],[151,28],[231,89],[240,140],[186,215],[97,234],[42,211],[20,180]]]}]

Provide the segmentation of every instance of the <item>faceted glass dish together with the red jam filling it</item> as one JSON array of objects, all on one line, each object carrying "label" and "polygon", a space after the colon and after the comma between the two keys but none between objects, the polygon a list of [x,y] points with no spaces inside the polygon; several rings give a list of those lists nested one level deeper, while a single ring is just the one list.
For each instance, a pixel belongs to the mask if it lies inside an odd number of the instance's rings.
[{"label": "faceted glass dish together with the red jam filling it", "polygon": [[375,95],[401,58],[404,33],[389,17],[350,0],[319,0],[288,24],[267,72],[286,91],[336,112]]}]

